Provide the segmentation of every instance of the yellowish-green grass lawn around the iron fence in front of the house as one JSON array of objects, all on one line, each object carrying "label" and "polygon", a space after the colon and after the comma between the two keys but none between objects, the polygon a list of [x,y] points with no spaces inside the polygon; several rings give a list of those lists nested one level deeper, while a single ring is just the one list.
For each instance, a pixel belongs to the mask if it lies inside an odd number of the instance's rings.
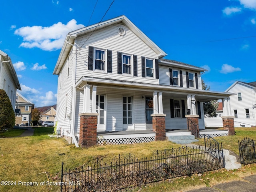
[{"label": "yellowish-green grass lawn around the iron fence in front of the house", "polygon": [[[61,163],[64,167],[74,169],[83,164],[90,164],[96,158],[104,162],[113,161],[118,154],[135,154],[136,158],[150,157],[155,150],[178,148],[180,145],[168,141],[142,144],[94,146],[91,148],[76,148],[68,145],[62,138],[50,138],[53,127],[36,127],[34,136],[0,139],[0,178],[3,181],[16,181],[13,186],[0,186],[5,192],[56,192],[59,186],[24,186],[18,182],[60,181]],[[250,136],[256,139],[255,129],[236,128],[236,136],[218,137],[224,148],[236,150],[238,140]],[[200,140],[202,142],[202,139]],[[237,143],[237,144],[236,144]],[[229,147],[232,146],[232,147]],[[237,153],[237,152],[236,152]],[[216,182],[238,179],[240,176],[256,174],[256,165],[243,166],[242,169],[226,171],[216,170],[206,172],[202,176],[192,175],[152,183],[140,188],[141,192],[182,191],[191,186],[209,186]],[[134,189],[130,191],[138,191]]]}]

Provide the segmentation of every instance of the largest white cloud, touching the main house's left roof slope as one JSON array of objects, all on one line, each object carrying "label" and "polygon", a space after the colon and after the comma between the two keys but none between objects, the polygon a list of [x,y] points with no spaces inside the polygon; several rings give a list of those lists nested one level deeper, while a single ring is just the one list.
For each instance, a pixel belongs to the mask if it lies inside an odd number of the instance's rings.
[{"label": "largest white cloud, touching the main house's left roof slope", "polygon": [[70,20],[66,25],[58,22],[49,27],[26,26],[15,30],[14,34],[22,36],[20,47],[40,48],[46,51],[62,48],[68,32],[83,28],[84,25],[76,24],[76,20]]}]

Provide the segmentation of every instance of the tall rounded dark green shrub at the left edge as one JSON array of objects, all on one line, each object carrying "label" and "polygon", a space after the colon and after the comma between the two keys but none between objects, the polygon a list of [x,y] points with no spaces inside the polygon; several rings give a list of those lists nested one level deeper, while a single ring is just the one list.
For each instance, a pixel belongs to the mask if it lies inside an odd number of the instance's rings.
[{"label": "tall rounded dark green shrub at the left edge", "polygon": [[0,130],[2,128],[13,128],[15,124],[15,114],[12,104],[6,92],[0,89]]}]

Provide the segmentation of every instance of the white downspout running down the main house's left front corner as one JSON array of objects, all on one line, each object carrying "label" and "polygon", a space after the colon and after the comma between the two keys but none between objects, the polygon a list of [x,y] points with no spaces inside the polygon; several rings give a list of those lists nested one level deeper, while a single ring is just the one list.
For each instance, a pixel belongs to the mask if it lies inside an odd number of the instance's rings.
[{"label": "white downspout running down the main house's left front corner", "polygon": [[[74,47],[74,52],[76,54],[76,46]],[[77,56],[77,55],[76,55]],[[75,116],[76,116],[76,56],[75,59],[73,58],[73,73],[72,73],[72,110],[71,110],[71,136],[73,138],[74,144],[76,147],[79,147],[79,144],[76,140],[75,136]]]}]

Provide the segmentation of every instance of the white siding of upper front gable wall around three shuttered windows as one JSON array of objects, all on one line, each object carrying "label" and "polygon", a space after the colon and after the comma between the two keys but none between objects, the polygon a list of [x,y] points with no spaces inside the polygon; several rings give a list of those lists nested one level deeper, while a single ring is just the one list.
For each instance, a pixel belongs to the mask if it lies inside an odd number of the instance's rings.
[{"label": "white siding of upper front gable wall around three shuttered windows", "polygon": [[[126,30],[126,34],[124,36],[120,36],[117,33],[117,28],[120,26]],[[114,24],[112,26],[107,26],[104,29],[94,31],[94,33],[88,39],[89,36],[90,34],[85,34],[83,36],[78,36],[76,39],[78,46],[83,45],[83,48],[79,51],[80,54],[77,54],[76,81],[79,80],[82,76],[93,76],[96,78],[106,77],[116,80],[124,80],[124,75],[118,74],[117,72],[117,52],[122,52],[123,54],[130,55],[131,61],[133,60],[133,55],[137,56],[137,82],[159,84],[158,79],[142,77],[141,65],[142,56],[156,59],[158,58],[158,55],[140,38],[138,38],[138,36],[136,36],[129,28],[122,24]],[[112,50],[112,73],[104,74],[97,71],[92,72],[88,70],[88,45],[99,49]],[[131,68],[133,68],[133,62],[131,62]],[[133,69],[131,69],[131,74],[133,74]],[[134,81],[134,76],[125,76],[125,79],[127,81]]]}]

